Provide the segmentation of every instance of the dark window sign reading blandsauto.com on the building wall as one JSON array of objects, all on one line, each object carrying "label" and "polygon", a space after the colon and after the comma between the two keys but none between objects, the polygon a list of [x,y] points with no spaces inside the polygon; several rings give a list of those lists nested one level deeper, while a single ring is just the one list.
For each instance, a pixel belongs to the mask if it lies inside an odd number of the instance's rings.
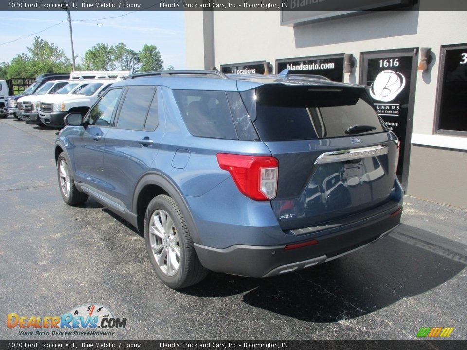
[{"label": "dark window sign reading blandsauto.com on the building wall", "polygon": [[290,70],[290,74],[315,74],[323,75],[330,80],[342,82],[344,70],[344,57],[304,57],[283,59],[277,61],[277,73],[282,70]]}]

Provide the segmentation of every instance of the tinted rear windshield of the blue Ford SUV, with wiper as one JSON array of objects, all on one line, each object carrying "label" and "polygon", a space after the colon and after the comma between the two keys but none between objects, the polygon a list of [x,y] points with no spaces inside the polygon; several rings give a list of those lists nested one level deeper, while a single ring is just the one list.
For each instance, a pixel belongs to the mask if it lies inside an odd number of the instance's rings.
[{"label": "tinted rear windshield of the blue Ford SUV, with wiper", "polygon": [[308,140],[386,131],[360,88],[269,87],[242,92],[261,140]]}]

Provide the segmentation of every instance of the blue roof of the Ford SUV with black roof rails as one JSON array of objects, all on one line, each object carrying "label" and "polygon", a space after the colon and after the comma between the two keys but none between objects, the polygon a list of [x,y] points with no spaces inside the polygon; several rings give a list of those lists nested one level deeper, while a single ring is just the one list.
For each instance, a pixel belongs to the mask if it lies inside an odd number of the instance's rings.
[{"label": "blue roof of the Ford SUV with black roof rails", "polygon": [[281,72],[279,75],[261,74],[223,74],[212,70],[168,70],[157,72],[136,73],[124,80],[113,84],[119,86],[167,86],[179,90],[222,90],[222,91],[247,91],[262,85],[281,84],[283,86],[320,86],[329,88],[363,88],[358,85],[350,85],[333,82],[319,75],[291,75]]}]

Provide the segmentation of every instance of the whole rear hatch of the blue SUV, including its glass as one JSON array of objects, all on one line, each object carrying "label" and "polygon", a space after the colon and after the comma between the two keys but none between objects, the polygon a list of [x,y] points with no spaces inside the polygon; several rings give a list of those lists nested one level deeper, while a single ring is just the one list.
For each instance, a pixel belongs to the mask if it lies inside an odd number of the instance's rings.
[{"label": "whole rear hatch of the blue SUV, including its glass", "polygon": [[265,84],[241,96],[260,139],[279,160],[271,205],[283,230],[319,230],[395,205],[397,139],[365,88]]}]

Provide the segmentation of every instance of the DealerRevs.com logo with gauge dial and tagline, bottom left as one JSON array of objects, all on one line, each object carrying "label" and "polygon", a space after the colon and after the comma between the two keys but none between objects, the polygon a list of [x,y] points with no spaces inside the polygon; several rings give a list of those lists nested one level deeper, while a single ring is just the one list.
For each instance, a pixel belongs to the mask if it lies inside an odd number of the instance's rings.
[{"label": "DealerRevs.com logo with gauge dial and tagline, bottom left", "polygon": [[21,336],[100,336],[114,335],[125,328],[126,318],[114,317],[105,306],[90,304],[73,308],[61,316],[30,316],[9,313],[6,326],[18,329]]}]

